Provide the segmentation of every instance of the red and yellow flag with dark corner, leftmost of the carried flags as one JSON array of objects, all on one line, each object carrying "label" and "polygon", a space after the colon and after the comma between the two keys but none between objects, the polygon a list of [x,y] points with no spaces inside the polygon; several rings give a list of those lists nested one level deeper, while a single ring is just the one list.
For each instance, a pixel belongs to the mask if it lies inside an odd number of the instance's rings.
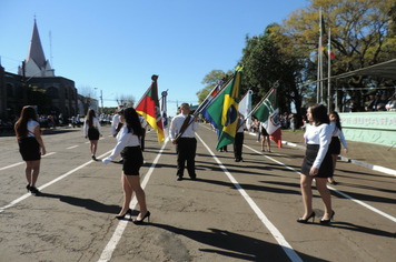
[{"label": "red and yellow flag with dark corner, leftmost of the carried flags", "polygon": [[164,135],[164,124],[161,118],[161,111],[158,101],[158,75],[152,75],[152,83],[150,88],[146,91],[143,97],[140,99],[138,105],[136,105],[136,111],[141,114],[146,121],[151,125],[154,130],[157,131],[158,142],[161,144]]}]

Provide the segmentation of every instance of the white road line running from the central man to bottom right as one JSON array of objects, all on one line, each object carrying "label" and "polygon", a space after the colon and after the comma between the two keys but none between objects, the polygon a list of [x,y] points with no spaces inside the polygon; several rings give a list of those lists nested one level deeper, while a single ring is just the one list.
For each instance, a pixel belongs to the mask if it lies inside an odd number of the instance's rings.
[{"label": "white road line running from the central man to bottom right", "polygon": [[211,157],[216,160],[218,165],[222,169],[222,171],[227,174],[228,179],[232,182],[234,187],[239,191],[239,193],[245,198],[245,200],[248,202],[250,208],[255,211],[257,216],[260,219],[260,221],[264,223],[264,225],[269,230],[269,232],[273,234],[275,240],[279,243],[279,245],[284,249],[285,253],[289,256],[289,259],[293,262],[300,261],[303,260],[298,256],[298,254],[294,251],[291,245],[285,240],[284,235],[279,232],[277,228],[267,219],[267,216],[263,213],[263,211],[257,206],[255,201],[249,196],[248,193],[240,187],[237,180],[234,179],[234,177],[228,172],[226,167],[218,160],[218,158],[214,154],[214,152],[209,149],[209,147],[204,142],[204,140],[196,134],[197,138],[202,142],[205,148],[209,151]]}]

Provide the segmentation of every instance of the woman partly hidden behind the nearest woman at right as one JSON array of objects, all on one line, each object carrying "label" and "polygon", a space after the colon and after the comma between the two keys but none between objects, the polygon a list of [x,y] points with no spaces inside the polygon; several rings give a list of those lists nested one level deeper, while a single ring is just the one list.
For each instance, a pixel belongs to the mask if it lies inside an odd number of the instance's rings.
[{"label": "woman partly hidden behind the nearest woman at right", "polygon": [[331,158],[333,158],[333,175],[328,178],[328,182],[330,184],[336,185],[337,182],[334,180],[334,172],[336,170],[338,155],[341,152],[341,144],[339,142],[339,139],[343,142],[345,153],[348,153],[348,147],[347,147],[345,138],[344,138],[344,132],[341,129],[341,123],[339,122],[338,113],[336,111],[331,111],[328,114],[328,117],[330,120],[330,128],[331,128],[331,142],[330,142],[328,150],[330,151]]}]

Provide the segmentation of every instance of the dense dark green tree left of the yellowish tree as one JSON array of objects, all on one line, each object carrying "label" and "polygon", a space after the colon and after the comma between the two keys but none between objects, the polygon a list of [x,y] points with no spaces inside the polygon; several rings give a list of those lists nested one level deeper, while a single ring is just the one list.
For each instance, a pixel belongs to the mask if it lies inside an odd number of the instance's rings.
[{"label": "dense dark green tree left of the yellowish tree", "polygon": [[245,64],[242,92],[254,91],[253,104],[257,104],[269,91],[274,82],[279,80],[279,108],[281,111],[291,111],[291,103],[298,110],[301,107],[304,88],[298,81],[304,79],[305,59],[298,59],[294,53],[280,52],[280,43],[271,38],[277,24],[269,24],[264,34],[246,37],[246,47],[240,62]]}]

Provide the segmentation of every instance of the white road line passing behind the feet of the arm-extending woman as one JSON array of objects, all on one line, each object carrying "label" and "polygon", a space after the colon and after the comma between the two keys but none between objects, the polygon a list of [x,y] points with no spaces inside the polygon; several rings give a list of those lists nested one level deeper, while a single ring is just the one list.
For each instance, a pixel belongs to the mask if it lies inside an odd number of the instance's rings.
[{"label": "white road line passing behind the feet of the arm-extending woman", "polygon": [[[151,177],[151,173],[155,170],[156,164],[157,164],[159,158],[162,154],[162,151],[164,151],[167,142],[168,142],[168,139],[165,140],[161,150],[158,152],[157,158],[154,160],[149,171],[145,175],[143,182],[141,183],[141,188],[142,189],[146,188],[146,185],[147,185],[147,183],[148,183],[148,181],[149,181],[149,179]],[[129,208],[133,210],[137,204],[138,204],[138,201],[137,201],[136,196],[133,196],[132,201],[130,202]],[[127,228],[127,224],[128,224],[128,220],[121,220],[118,223],[115,233],[112,234],[110,241],[107,243],[105,250],[100,254],[100,258],[99,258],[98,262],[105,262],[105,261],[109,261],[111,259],[112,252],[116,250],[116,246],[117,246],[118,242],[120,241],[120,239],[122,236],[122,233],[123,233],[123,230]]]}]

